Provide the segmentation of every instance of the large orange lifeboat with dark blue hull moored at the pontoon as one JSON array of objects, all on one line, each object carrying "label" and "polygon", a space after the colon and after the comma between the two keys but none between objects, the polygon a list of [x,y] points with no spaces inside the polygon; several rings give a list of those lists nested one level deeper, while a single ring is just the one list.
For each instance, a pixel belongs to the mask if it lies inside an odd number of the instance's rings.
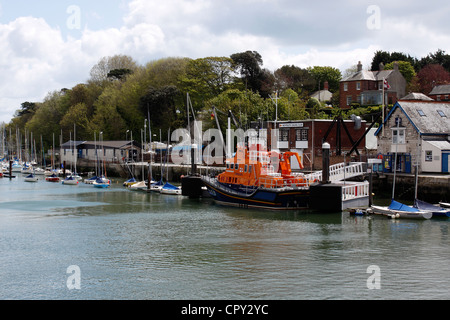
[{"label": "large orange lifeboat with dark blue hull moored at the pontoon", "polygon": [[[202,176],[212,198],[219,204],[242,208],[277,210],[308,209],[310,185],[316,180],[291,170],[291,158],[303,168],[295,152],[249,151],[238,147],[227,159],[225,172],[216,178]],[[270,161],[270,160],[273,161]]]}]

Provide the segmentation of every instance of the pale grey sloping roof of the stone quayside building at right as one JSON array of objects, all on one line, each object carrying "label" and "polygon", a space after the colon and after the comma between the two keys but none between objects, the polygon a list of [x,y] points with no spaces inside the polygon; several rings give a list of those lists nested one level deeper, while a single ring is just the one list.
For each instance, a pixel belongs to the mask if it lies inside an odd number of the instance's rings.
[{"label": "pale grey sloping roof of the stone quayside building at right", "polygon": [[[398,101],[413,125],[423,134],[450,134],[450,103],[434,101]],[[395,108],[394,108],[395,109]],[[421,110],[424,116],[419,114]],[[442,111],[445,117],[439,113]]]}]

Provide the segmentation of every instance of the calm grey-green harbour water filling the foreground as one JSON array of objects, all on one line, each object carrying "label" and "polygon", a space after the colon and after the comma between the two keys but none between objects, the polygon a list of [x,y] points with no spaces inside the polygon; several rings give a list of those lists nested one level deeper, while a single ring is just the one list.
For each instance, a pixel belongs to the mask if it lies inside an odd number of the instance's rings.
[{"label": "calm grey-green harbour water filling the foreground", "polygon": [[0,179],[0,299],[447,299],[449,223],[244,210],[19,174]]}]

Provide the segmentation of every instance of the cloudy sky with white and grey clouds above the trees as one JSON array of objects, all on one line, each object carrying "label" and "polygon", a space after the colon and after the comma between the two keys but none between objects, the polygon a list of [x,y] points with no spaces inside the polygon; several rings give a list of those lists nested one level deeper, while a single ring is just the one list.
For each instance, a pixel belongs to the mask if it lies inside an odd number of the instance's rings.
[{"label": "cloudy sky with white and grey clouds above the trees", "polygon": [[271,71],[341,70],[377,50],[416,58],[450,53],[450,5],[392,0],[0,0],[0,123],[21,103],[85,83],[101,58],[257,51]]}]

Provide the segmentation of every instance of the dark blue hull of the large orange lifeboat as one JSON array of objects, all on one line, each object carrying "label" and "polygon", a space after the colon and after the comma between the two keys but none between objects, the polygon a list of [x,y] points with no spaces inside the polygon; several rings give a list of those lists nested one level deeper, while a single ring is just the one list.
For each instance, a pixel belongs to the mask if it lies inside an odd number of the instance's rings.
[{"label": "dark blue hull of the large orange lifeboat", "polygon": [[203,179],[211,197],[219,204],[240,208],[274,210],[309,209],[309,188],[304,189],[255,189],[250,193],[239,192],[219,183]]}]

